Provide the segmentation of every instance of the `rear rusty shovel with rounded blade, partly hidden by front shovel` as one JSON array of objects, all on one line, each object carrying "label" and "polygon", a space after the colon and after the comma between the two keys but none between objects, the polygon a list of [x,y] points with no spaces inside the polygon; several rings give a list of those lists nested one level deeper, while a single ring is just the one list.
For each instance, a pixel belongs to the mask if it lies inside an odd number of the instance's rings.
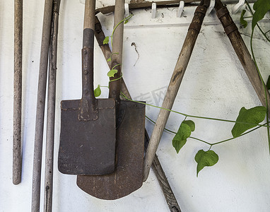
[{"label": "rear rusty shovel with rounded blade, partly hidden by front shovel", "polygon": [[[114,25],[124,19],[124,0],[115,1]],[[122,64],[124,23],[115,28],[113,35],[112,67]],[[78,176],[77,185],[84,192],[99,199],[119,199],[139,189],[143,184],[143,151],[145,134],[145,105],[138,102],[120,100],[120,65],[110,80],[111,98],[117,107],[117,149],[116,168],[110,175]]]}]

